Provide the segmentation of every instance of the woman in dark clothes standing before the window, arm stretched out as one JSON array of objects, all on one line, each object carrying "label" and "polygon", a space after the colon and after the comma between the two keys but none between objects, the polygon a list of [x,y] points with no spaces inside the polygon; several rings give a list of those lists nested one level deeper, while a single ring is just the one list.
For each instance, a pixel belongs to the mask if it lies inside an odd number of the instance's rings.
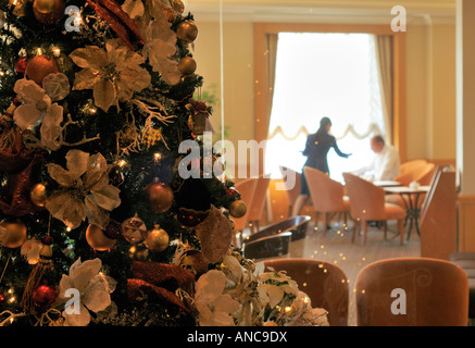
[{"label": "woman in dark clothes standing before the window, arm stretched out", "polygon": [[[337,140],[329,134],[332,128],[332,121],[328,117],[323,117],[320,121],[320,128],[315,134],[311,134],[307,138],[305,149],[302,154],[307,157],[305,164],[303,166],[310,166],[329,175],[327,154],[330,148],[335,149],[335,152],[339,157],[348,158],[350,154],[343,153],[337,146]],[[307,185],[305,175],[303,174],[300,179],[300,196],[297,198],[293,206],[292,215],[296,216],[300,213],[305,201],[309,199],[310,191]]]}]

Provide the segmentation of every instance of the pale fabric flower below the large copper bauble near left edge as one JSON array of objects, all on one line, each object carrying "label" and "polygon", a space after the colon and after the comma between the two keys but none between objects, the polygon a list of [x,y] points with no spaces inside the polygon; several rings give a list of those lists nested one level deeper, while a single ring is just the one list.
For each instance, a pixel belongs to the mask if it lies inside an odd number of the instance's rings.
[{"label": "pale fabric flower below the large copper bauble near left edge", "polygon": [[22,130],[41,122],[41,145],[49,150],[60,148],[61,122],[63,122],[63,107],[51,103],[51,98],[45,89],[35,82],[22,78],[13,88],[22,102],[15,109],[13,120]]}]

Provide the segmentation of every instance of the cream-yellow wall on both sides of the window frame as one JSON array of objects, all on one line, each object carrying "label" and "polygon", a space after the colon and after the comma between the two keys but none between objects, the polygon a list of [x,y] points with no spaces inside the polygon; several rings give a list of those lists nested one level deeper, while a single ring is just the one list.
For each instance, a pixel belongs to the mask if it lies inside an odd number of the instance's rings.
[{"label": "cream-yellow wall on both sides of the window frame", "polygon": [[[215,86],[220,97],[220,25],[196,17],[199,37],[195,58],[197,73],[204,77],[204,90]],[[254,137],[253,25],[225,22],[224,116],[229,139]],[[407,32],[407,141],[408,159],[455,158],[455,25],[454,23],[409,24]],[[211,119],[220,132],[221,108]]]}]

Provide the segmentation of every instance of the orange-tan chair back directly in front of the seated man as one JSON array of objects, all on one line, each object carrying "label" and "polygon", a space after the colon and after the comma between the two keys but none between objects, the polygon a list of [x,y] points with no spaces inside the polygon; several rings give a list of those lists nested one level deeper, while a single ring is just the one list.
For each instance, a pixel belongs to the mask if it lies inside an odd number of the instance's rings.
[{"label": "orange-tan chair back directly in front of the seated man", "polygon": [[386,220],[385,191],[383,188],[350,173],[343,173],[350,212],[363,221]]}]

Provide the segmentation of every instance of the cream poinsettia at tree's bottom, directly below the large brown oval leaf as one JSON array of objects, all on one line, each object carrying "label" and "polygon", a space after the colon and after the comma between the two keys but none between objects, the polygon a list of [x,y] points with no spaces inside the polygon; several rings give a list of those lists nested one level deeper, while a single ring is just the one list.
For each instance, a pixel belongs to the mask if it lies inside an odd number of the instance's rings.
[{"label": "cream poinsettia at tree's bottom, directly below the large brown oval leaf", "polygon": [[217,270],[209,271],[198,279],[195,304],[200,326],[235,325],[232,314],[239,309],[239,302],[223,295],[226,283],[226,275]]}]

